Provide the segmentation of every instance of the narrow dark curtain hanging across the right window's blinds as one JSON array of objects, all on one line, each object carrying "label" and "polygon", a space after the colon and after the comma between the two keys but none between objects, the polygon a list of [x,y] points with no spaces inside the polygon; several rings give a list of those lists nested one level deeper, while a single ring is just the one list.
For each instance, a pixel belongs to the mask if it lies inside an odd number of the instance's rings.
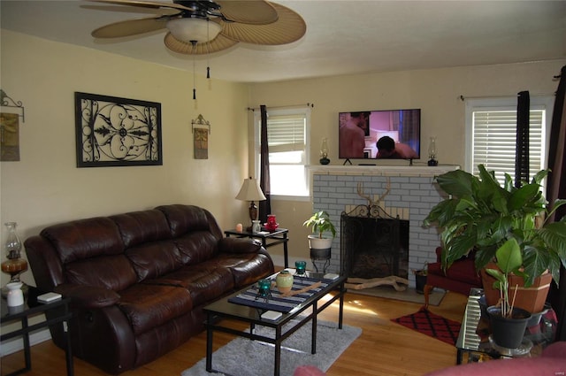
[{"label": "narrow dark curtain hanging across the right window's blinds", "polygon": [[522,181],[529,181],[529,113],[531,97],[528,91],[521,91],[516,105],[516,155],[515,187]]}]

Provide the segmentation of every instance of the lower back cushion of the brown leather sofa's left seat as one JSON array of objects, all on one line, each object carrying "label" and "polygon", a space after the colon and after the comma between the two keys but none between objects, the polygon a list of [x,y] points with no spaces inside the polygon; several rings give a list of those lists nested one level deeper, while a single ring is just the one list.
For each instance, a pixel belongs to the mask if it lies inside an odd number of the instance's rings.
[{"label": "lower back cushion of the brown leather sofa's left seat", "polygon": [[134,284],[137,275],[124,255],[91,257],[65,265],[65,280],[77,285],[120,291]]}]

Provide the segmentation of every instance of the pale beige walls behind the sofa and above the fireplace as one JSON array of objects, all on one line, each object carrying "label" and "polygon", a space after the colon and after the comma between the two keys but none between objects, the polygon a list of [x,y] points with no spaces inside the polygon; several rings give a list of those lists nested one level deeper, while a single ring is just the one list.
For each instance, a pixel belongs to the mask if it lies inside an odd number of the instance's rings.
[{"label": "pale beige walls behind the sofa and above the fireplace", "polygon": [[[259,104],[315,104],[310,133],[313,165],[323,137],[329,141],[331,164],[343,162],[337,154],[338,111],[408,107],[423,110],[423,149],[434,135],[440,163],[463,165],[464,104],[459,96],[507,96],[521,90],[551,94],[557,86],[552,78],[566,64],[559,60],[250,85],[214,80],[209,85],[198,75],[195,103],[192,73],[5,30],[1,52],[1,87],[24,103],[26,122],[21,124],[21,161],[0,164],[0,220],[19,222],[22,238],[52,223],[162,203],[197,203],[212,211],[223,228],[245,223],[247,203],[233,197],[253,171],[253,133],[245,109]],[[164,165],[76,168],[75,91],[161,103]],[[199,113],[212,124],[208,160],[195,160],[192,154],[190,120]],[[308,230],[302,222],[311,211],[308,201],[272,203],[279,225],[290,230],[292,262],[308,258]],[[282,247],[270,252],[281,265]],[[29,272],[24,280],[32,280]],[[3,285],[5,281],[3,275]]]}]

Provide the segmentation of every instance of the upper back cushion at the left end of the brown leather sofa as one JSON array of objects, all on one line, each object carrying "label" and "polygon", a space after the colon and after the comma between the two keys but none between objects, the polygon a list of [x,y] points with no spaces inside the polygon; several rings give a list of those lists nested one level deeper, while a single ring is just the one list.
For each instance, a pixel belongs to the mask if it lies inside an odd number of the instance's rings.
[{"label": "upper back cushion at the left end of the brown leather sofa", "polygon": [[88,257],[117,255],[124,249],[118,227],[111,219],[103,217],[49,226],[41,235],[49,239],[63,264]]}]

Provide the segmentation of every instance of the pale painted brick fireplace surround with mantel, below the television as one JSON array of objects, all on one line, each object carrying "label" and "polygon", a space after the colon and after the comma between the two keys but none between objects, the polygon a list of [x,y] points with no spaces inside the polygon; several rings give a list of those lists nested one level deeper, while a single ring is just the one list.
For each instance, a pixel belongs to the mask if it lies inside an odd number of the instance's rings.
[{"label": "pale painted brick fireplace surround with mantel, below the television", "polygon": [[[455,165],[429,166],[311,166],[311,187],[314,211],[328,211],[338,230],[333,241],[332,259],[327,272],[340,272],[340,215],[356,205],[368,203],[358,195],[379,199],[379,206],[390,216],[409,221],[409,271],[420,269],[425,262],[436,261],[434,250],[440,245],[436,228],[424,228],[423,220],[432,207],[444,198],[433,178],[457,169]],[[409,280],[414,284],[414,275]],[[414,285],[413,285],[414,286]]]}]

